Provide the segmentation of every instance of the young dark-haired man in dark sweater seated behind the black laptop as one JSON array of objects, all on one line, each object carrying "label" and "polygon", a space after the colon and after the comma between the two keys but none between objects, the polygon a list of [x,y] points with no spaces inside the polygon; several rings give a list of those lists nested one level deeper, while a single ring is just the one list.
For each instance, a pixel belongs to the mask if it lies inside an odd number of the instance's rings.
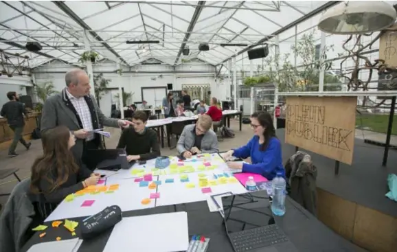
[{"label": "young dark-haired man in dark sweater seated behind the black laptop", "polygon": [[148,160],[160,156],[160,144],[155,130],[146,128],[148,116],[144,111],[136,111],[133,124],[123,130],[117,149],[126,149],[127,160]]}]

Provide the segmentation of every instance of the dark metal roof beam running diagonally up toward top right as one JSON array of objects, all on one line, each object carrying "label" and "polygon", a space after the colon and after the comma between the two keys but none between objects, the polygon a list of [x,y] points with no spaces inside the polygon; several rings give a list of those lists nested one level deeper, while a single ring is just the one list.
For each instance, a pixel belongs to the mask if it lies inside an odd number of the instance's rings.
[{"label": "dark metal roof beam running diagonally up toward top right", "polygon": [[[298,25],[299,23],[302,23],[302,22],[312,18],[313,16],[321,13],[323,10],[331,8],[332,6],[337,5],[338,3],[341,3],[341,1],[328,1],[327,3],[319,6],[319,8],[316,8],[315,10],[312,10],[311,12],[306,14],[306,16],[302,16],[299,19],[293,21],[292,23],[289,23],[288,25],[282,27],[281,29],[273,32],[273,34],[271,34],[271,36],[265,36],[264,38],[262,38],[257,43],[255,43],[253,45],[249,45],[248,47],[245,47],[245,49],[242,49],[241,51],[238,51],[238,53],[235,56],[243,54],[246,51],[248,51],[249,49],[252,49],[253,47],[256,47],[257,45],[262,45],[263,43],[266,43],[266,41],[269,41],[269,39],[273,38],[274,36],[277,36],[278,34],[281,34],[282,32],[285,32],[285,31],[291,29],[292,27],[295,27],[295,25]],[[218,65],[227,62],[227,60],[230,60],[231,58],[233,58],[235,56],[231,56],[229,58],[226,58],[225,60],[220,62]]]}]

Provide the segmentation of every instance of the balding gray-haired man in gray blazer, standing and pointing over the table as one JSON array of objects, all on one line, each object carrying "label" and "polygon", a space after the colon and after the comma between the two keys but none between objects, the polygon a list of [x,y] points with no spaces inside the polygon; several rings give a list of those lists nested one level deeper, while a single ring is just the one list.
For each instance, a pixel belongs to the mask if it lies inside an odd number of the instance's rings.
[{"label": "balding gray-haired man in gray blazer, standing and pointing over the table", "polygon": [[64,125],[76,137],[76,145],[71,149],[76,157],[89,168],[87,150],[98,149],[102,145],[100,135],[93,130],[109,127],[124,127],[132,122],[104,116],[93,95],[89,76],[82,69],[73,69],[65,75],[66,87],[60,93],[49,97],[43,106],[41,132]]}]

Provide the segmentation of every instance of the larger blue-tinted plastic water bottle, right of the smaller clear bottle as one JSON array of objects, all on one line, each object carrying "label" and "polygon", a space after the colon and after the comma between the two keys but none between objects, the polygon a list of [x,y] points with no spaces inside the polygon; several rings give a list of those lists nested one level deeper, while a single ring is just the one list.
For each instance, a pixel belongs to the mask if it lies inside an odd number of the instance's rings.
[{"label": "larger blue-tinted plastic water bottle, right of the smaller clear bottle", "polygon": [[273,202],[271,203],[271,211],[276,216],[283,216],[285,214],[286,181],[282,177],[282,173],[277,172],[272,181],[272,187]]}]

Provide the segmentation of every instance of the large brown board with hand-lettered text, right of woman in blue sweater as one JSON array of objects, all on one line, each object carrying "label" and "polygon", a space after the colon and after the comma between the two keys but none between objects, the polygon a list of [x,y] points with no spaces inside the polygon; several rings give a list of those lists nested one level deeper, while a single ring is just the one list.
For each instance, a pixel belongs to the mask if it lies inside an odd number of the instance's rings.
[{"label": "large brown board with hand-lettered text, right of woman in blue sweater", "polygon": [[[291,101],[291,99],[295,99],[295,101]],[[312,102],[308,100],[312,100]],[[323,100],[323,102],[319,100]],[[350,106],[354,109],[346,111],[346,106],[337,106],[334,102],[329,98],[288,98],[286,142],[343,163],[351,163],[354,146],[355,106]],[[351,113],[351,115],[341,119],[346,116],[346,113]]]}]

